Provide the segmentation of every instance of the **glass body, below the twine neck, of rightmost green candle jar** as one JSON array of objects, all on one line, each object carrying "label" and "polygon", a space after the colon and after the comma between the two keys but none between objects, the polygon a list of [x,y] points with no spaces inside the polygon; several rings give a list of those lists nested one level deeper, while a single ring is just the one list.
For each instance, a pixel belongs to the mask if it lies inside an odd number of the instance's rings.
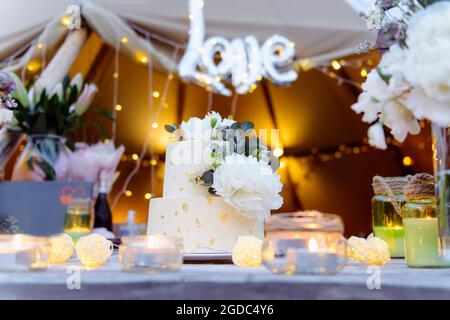
[{"label": "glass body, below the twine neck, of rightmost green candle jar", "polygon": [[410,268],[449,267],[439,254],[438,219],[433,197],[413,199],[403,206],[405,258]]}]

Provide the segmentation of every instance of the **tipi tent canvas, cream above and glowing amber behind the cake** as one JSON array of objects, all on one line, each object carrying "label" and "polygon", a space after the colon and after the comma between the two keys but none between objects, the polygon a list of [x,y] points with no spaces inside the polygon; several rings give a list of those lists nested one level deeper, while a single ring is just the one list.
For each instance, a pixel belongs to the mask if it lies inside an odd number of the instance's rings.
[{"label": "tipi tent canvas, cream above and glowing amber behind the cake", "polygon": [[[16,0],[0,5],[6,6],[0,9],[9,14],[8,27],[0,28],[0,58],[6,58],[38,36],[46,22],[53,23],[47,32],[55,33],[49,35],[54,39],[55,46],[59,42],[57,39],[64,36],[66,31],[58,19],[73,1],[37,0],[33,1],[32,6],[29,3],[27,0]],[[102,32],[111,28],[105,29],[99,25],[100,20],[91,19],[89,12],[100,12],[102,16],[104,14],[101,12],[104,11],[115,13],[128,22],[180,45],[188,37],[189,20],[185,0],[91,0],[79,4],[85,6],[86,21],[95,32],[89,36],[71,73],[82,70],[89,81],[99,86],[95,106],[114,107],[112,75],[116,70],[115,50],[111,44],[116,43],[118,38],[113,39],[110,32]],[[234,38],[254,34],[264,41],[272,34],[279,33],[296,43],[299,59],[311,59],[316,63],[353,53],[359,43],[370,37],[364,22],[344,0],[207,0],[204,10],[208,36]],[[115,35],[123,36],[119,33]],[[127,34],[127,37],[131,38],[132,35]],[[152,44],[156,48],[153,53],[171,52],[167,48],[159,52],[158,48],[163,46],[157,46],[157,41],[152,41]],[[129,186],[132,196],[122,198],[115,209],[116,222],[123,221],[129,209],[138,212],[139,221],[145,221],[148,200],[144,196],[149,192],[161,195],[164,175],[162,160],[168,141],[163,124],[202,116],[209,102],[214,110],[226,116],[231,113],[233,103],[233,97],[209,95],[203,88],[174,78],[168,86],[167,99],[162,104],[159,127],[152,129],[150,121],[154,119],[154,114],[149,108],[149,90],[164,91],[168,79],[167,69],[159,68],[149,84],[149,68],[136,63],[132,51],[137,50],[134,45],[130,41],[121,48],[122,54],[119,56],[117,101],[122,110],[117,113],[116,143],[124,144],[128,155],[139,153],[145,137],[153,130],[151,147],[155,157],[161,161],[156,167],[156,190],[152,189],[152,175],[147,162],[147,166],[139,171]],[[151,51],[149,53],[155,61],[165,59],[158,59]],[[166,53],[165,56],[171,55]],[[352,68],[342,68],[339,73],[355,81],[363,80],[359,71],[355,72]],[[263,81],[253,94],[237,99],[235,117],[241,121],[252,120],[257,128],[280,129],[286,164],[280,171],[285,184],[285,205],[282,211],[318,209],[338,213],[344,218],[348,233],[364,234],[370,230],[371,223],[371,178],[375,174],[395,176],[405,173],[401,167],[402,151],[394,148],[386,152],[350,152],[342,159],[330,162],[317,161],[317,157],[311,161],[307,157],[317,150],[334,150],[341,145],[352,146],[363,140],[367,126],[350,109],[357,93],[353,87],[339,86],[335,79],[311,70],[301,73],[298,81],[290,88],[276,87]],[[161,97],[155,98],[153,102],[160,105]],[[418,143],[412,145],[414,147]],[[134,165],[132,157],[122,162],[122,174],[115,185],[115,192]]]}]

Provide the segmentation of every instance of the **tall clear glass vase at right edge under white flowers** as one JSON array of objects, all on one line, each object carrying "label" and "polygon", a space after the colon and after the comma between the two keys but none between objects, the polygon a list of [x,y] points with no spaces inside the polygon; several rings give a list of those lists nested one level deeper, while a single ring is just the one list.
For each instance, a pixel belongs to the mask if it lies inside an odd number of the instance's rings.
[{"label": "tall clear glass vase at right edge under white flowers", "polygon": [[439,249],[445,260],[450,260],[450,155],[449,127],[432,124],[433,162],[436,179],[436,209],[439,226]]}]

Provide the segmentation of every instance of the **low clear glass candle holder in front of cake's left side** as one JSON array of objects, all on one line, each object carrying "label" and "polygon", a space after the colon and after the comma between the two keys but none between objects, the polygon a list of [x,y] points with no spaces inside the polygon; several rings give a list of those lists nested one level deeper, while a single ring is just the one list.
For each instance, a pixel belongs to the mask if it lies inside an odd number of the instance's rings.
[{"label": "low clear glass candle holder in front of cake's left side", "polygon": [[164,235],[122,238],[119,261],[123,271],[177,271],[183,265],[183,240]]}]

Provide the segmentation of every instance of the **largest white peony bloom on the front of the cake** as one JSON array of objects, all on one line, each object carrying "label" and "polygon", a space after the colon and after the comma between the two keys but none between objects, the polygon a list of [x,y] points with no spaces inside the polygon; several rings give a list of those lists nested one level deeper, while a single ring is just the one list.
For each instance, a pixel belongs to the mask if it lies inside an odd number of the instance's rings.
[{"label": "largest white peony bloom on the front of the cake", "polygon": [[240,214],[264,220],[283,204],[280,176],[254,157],[232,154],[214,171],[212,187]]}]

